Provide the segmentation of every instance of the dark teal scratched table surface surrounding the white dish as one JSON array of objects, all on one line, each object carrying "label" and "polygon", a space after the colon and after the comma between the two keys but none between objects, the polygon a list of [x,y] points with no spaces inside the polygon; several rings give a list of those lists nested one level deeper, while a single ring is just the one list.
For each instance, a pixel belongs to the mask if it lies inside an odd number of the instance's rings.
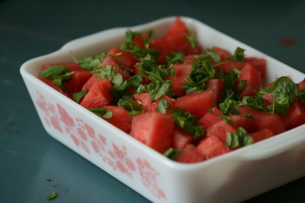
[{"label": "dark teal scratched table surface surrounding the white dish", "polygon": [[[23,62],[104,29],[182,15],[305,73],[305,1],[255,2],[0,0],[0,202],[48,202],[52,191],[52,202],[149,202],[48,136]],[[301,178],[246,202],[305,202],[304,191]]]}]

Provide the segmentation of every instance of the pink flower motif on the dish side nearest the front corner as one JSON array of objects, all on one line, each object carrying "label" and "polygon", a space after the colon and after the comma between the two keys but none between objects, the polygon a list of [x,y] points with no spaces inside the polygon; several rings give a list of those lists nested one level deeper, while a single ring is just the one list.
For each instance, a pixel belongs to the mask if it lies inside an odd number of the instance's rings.
[{"label": "pink flower motif on the dish side nearest the front corner", "polygon": [[165,193],[158,186],[156,177],[159,175],[158,172],[148,163],[146,160],[137,158],[139,173],[141,176],[142,183],[147,187],[151,193],[158,198],[166,198]]}]

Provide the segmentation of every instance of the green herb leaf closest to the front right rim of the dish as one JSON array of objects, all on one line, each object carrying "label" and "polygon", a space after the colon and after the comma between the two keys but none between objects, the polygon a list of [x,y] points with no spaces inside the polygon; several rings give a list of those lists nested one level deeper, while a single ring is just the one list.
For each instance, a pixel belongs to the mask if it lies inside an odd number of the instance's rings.
[{"label": "green herb leaf closest to the front right rim of the dish", "polygon": [[229,148],[244,147],[254,142],[251,135],[242,127],[238,127],[235,132],[227,132],[225,144]]}]

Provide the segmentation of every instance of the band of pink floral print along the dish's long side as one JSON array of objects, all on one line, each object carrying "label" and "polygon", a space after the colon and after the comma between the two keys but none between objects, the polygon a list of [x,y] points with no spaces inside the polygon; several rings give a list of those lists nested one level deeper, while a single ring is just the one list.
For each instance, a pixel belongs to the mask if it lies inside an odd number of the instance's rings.
[{"label": "band of pink floral print along the dish's long side", "polygon": [[[80,118],[71,117],[59,104],[55,106],[48,103],[45,97],[37,91],[36,104],[43,112],[43,121],[60,133],[69,136],[76,147],[80,147],[88,155],[99,155],[113,171],[126,175],[131,180],[140,178],[142,184],[158,198],[166,199],[166,195],[159,188],[157,177],[160,174],[145,159],[137,158],[135,161],[128,156],[125,146],[107,143],[102,134],[85,123]],[[57,108],[56,108],[57,107]],[[56,112],[57,111],[57,112]]]}]

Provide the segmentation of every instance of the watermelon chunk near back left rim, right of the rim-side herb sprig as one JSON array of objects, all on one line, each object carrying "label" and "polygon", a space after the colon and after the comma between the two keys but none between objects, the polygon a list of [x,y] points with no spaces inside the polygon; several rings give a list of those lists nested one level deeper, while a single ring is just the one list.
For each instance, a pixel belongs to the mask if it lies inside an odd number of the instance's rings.
[{"label": "watermelon chunk near back left rim, right of the rim-side herb sprig", "polygon": [[134,71],[134,65],[136,64],[136,62],[138,62],[138,59],[136,59],[136,57],[128,51],[124,51],[115,47],[112,47],[109,51],[108,54],[109,55],[115,55],[121,53],[120,55],[116,56],[116,57],[112,57],[114,60],[116,61],[121,61],[122,65],[124,67],[128,67],[128,69],[130,69],[131,71]]}]

